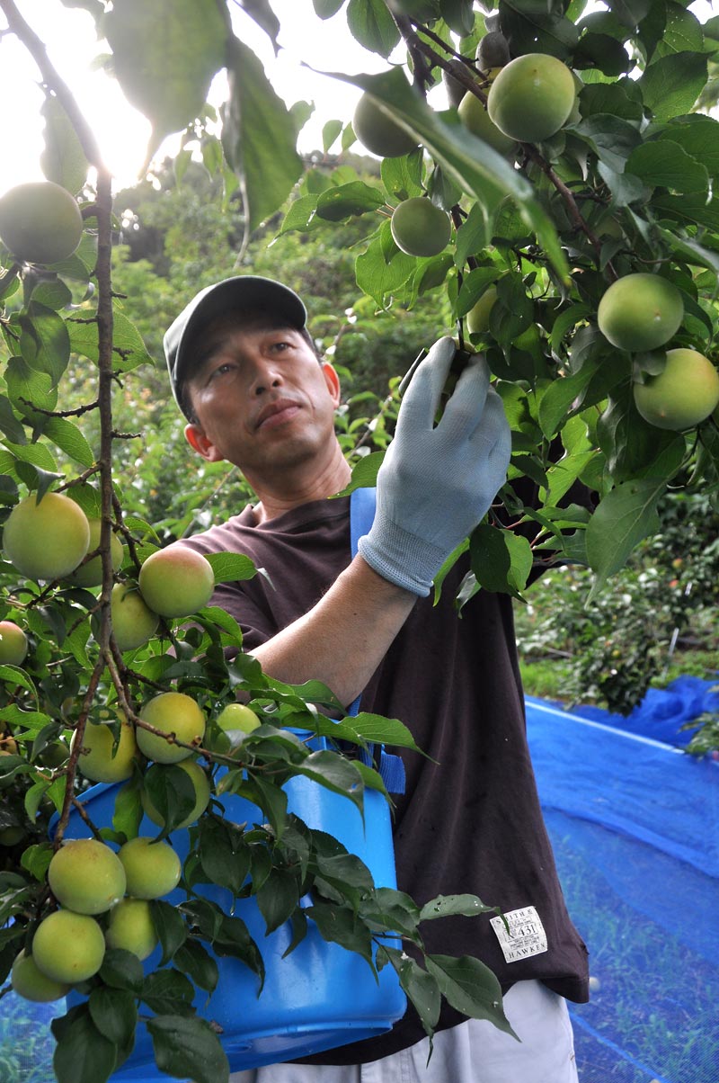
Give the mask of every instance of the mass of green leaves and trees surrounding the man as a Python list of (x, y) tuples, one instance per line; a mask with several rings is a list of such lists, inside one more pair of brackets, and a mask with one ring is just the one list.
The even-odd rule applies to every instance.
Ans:
[[(283, 278), (318, 314), (323, 344), (341, 365), (347, 358), (348, 373), (378, 380), (369, 400), (372, 407), (381, 405), (376, 425), (363, 416), (362, 388), (339, 417), (343, 446), (361, 459), (357, 484), (371, 482), (381, 455), (369, 459), (365, 453), (381, 453), (396, 409), (398, 377), (407, 365), (403, 314), (421, 309), (428, 338), (452, 329), (466, 342), (463, 317), (488, 286), (496, 287), (488, 328), (472, 344), (486, 353), (514, 454), (497, 508), (470, 542), (472, 573), (460, 602), (482, 586), (521, 596), (533, 564), (558, 561), (588, 564), (596, 599), (636, 545), (657, 533), (669, 486), (702, 494), (716, 511), (716, 415), (707, 412), (681, 433), (643, 421), (632, 383), (661, 373), (665, 353), (610, 347), (597, 309), (616, 278), (645, 270), (661, 274), (683, 301), (672, 343), (715, 356), (719, 125), (693, 109), (713, 93), (707, 88), (717, 21), (703, 27), (691, 11), (665, 0), (607, 0), (600, 11), (581, 0), (499, 0), (496, 10), (487, 4), (482, 11), (472, 0), (437, 0), (441, 17), (427, 27), (393, 15), (381, 0), (352, 0), (344, 12), (341, 3), (315, 0), (317, 18), (347, 18), (348, 32), (367, 49), (388, 60), (401, 42), (406, 50), (406, 64), (382, 75), (335, 76), (369, 93), (418, 143), (407, 155), (385, 158), (378, 173), (361, 171), (341, 155), (327, 169), (303, 161), (297, 136), (306, 103), (288, 108), (278, 97), (232, 26), (233, 5), (101, 0), (81, 6), (97, 19), (110, 51), (108, 68), (152, 121), (148, 160), (164, 134), (184, 134), (174, 182), (167, 171), (158, 182), (168, 198), (154, 199), (149, 187), (134, 193), (145, 208), (142, 218), (132, 201), (113, 206), (112, 179), (83, 116), (13, 0), (0, 0), (3, 35), (12, 32), (27, 45), (47, 90), (43, 169), (77, 198), (84, 225), (77, 251), (53, 266), (0, 253), (6, 361), (0, 388), (2, 520), (28, 493), (65, 492), (101, 519), (103, 561), (102, 585), (91, 589), (30, 582), (8, 563), (0, 570), (0, 616), (19, 623), (31, 640), (22, 668), (0, 668), (0, 786), (8, 798), (0, 823), (22, 832), (2, 852), (0, 976), (6, 978), (18, 949), (30, 947), (54, 906), (45, 872), (84, 790), (77, 761), (87, 725), (120, 710), (135, 727), (147, 727), (139, 714), (142, 702), (173, 689), (193, 695), (209, 718), (202, 744), (187, 746), (204, 765), (213, 797), (192, 827), (186, 898), (178, 906), (154, 908), (162, 941), (159, 970), (145, 974), (131, 955), (108, 952), (99, 975), (77, 990), (79, 1003), (53, 1027), (58, 1083), (109, 1078), (131, 1049), (146, 1008), (155, 1013), (148, 1027), (162, 1070), (193, 1075), (197, 1083), (226, 1080), (221, 1044), (196, 1015), (192, 996), (214, 988), (215, 955), (241, 960), (259, 987), (263, 964), (241, 916), (204, 897), (207, 884), (240, 903), (253, 897), (267, 928), (289, 921), (296, 941), (306, 931), (309, 895), (321, 935), (358, 953), (370, 968), (391, 966), (429, 1034), (441, 996), (507, 1028), (496, 979), (483, 964), (428, 956), (422, 949), (423, 922), (492, 908), (461, 895), (420, 908), (402, 892), (378, 888), (358, 858), (287, 810), (282, 786), (296, 777), (362, 809), (366, 791), (383, 793), (381, 779), (334, 742), (414, 749), (410, 733), (397, 720), (375, 716), (328, 720), (324, 710), (343, 714), (330, 690), (271, 680), (243, 653), (234, 622), (211, 606), (195, 614), (191, 627), (166, 622), (159, 636), (122, 654), (112, 629), (110, 532), (126, 550), (118, 577), (134, 583), (159, 545), (204, 523), (210, 503), (217, 516), (220, 488), (232, 490), (223, 510), (247, 495), (235, 475), (225, 482), (221, 468), (198, 473), (188, 492), (189, 471), (178, 469), (180, 421), (159, 405), (167, 382), (152, 358), (178, 298), (232, 273), (236, 245), (241, 260), (257, 243), (256, 272), (277, 266), (263, 248), (269, 230), (283, 256)], [(276, 45), (279, 27), (270, 6), (246, 6)], [(518, 145), (511, 161), (466, 131), (455, 109), (436, 113), (426, 100), (430, 86), (446, 75), (484, 103), (488, 75), (475, 49), (488, 29), (501, 32), (512, 56), (551, 53), (578, 79), (576, 109), (564, 128), (541, 144)], [(221, 68), (228, 95), (218, 119), (205, 99)], [(339, 141), (344, 154), (353, 140), (342, 118), (326, 129), (324, 151)], [(204, 199), (201, 184), (192, 181), (193, 156), (201, 159), (214, 199)], [(177, 186), (183, 178), (191, 198)], [(424, 196), (452, 217), (454, 233), (445, 251), (416, 259), (396, 248), (390, 217), (397, 203)], [(118, 227), (129, 253), (114, 245)], [(224, 238), (220, 261), (211, 240), (218, 234)], [(161, 246), (153, 244), (160, 235)], [(313, 256), (323, 245), (326, 250), (309, 261), (313, 243)], [(337, 253), (347, 246), (355, 283), (340, 278), (338, 296)], [(344, 255), (342, 262), (347, 268)], [(390, 318), (396, 327), (396, 350), (387, 354), (378, 347), (378, 314), (383, 328)], [(377, 363), (366, 366), (371, 352), (379, 354)], [(140, 391), (136, 374), (147, 374)], [(162, 446), (138, 454), (135, 426), (148, 425), (158, 429)], [(170, 472), (180, 475), (178, 485), (153, 493), (157, 479)], [(596, 494), (593, 511), (587, 491)], [(241, 557), (220, 554), (212, 563), (218, 582), (257, 574)], [(710, 576), (702, 576), (704, 590)], [(639, 606), (649, 580), (638, 582), (632, 598)], [(681, 590), (669, 589), (674, 618), (683, 603)], [(581, 621), (573, 634), (587, 635)], [(643, 680), (640, 662), (631, 662), (623, 680), (622, 702)], [(215, 718), (238, 693), (262, 726), (228, 746)], [(319, 738), (329, 746), (313, 744)], [(112, 824), (89, 830), (113, 844), (133, 837), (144, 793), (165, 821), (164, 837), (194, 806), (191, 790), (177, 767), (139, 766), (120, 791)], [(246, 797), (258, 810), (257, 822), (240, 827), (227, 821), (223, 794)], [(397, 935), (411, 957), (392, 947), (389, 938)]]

